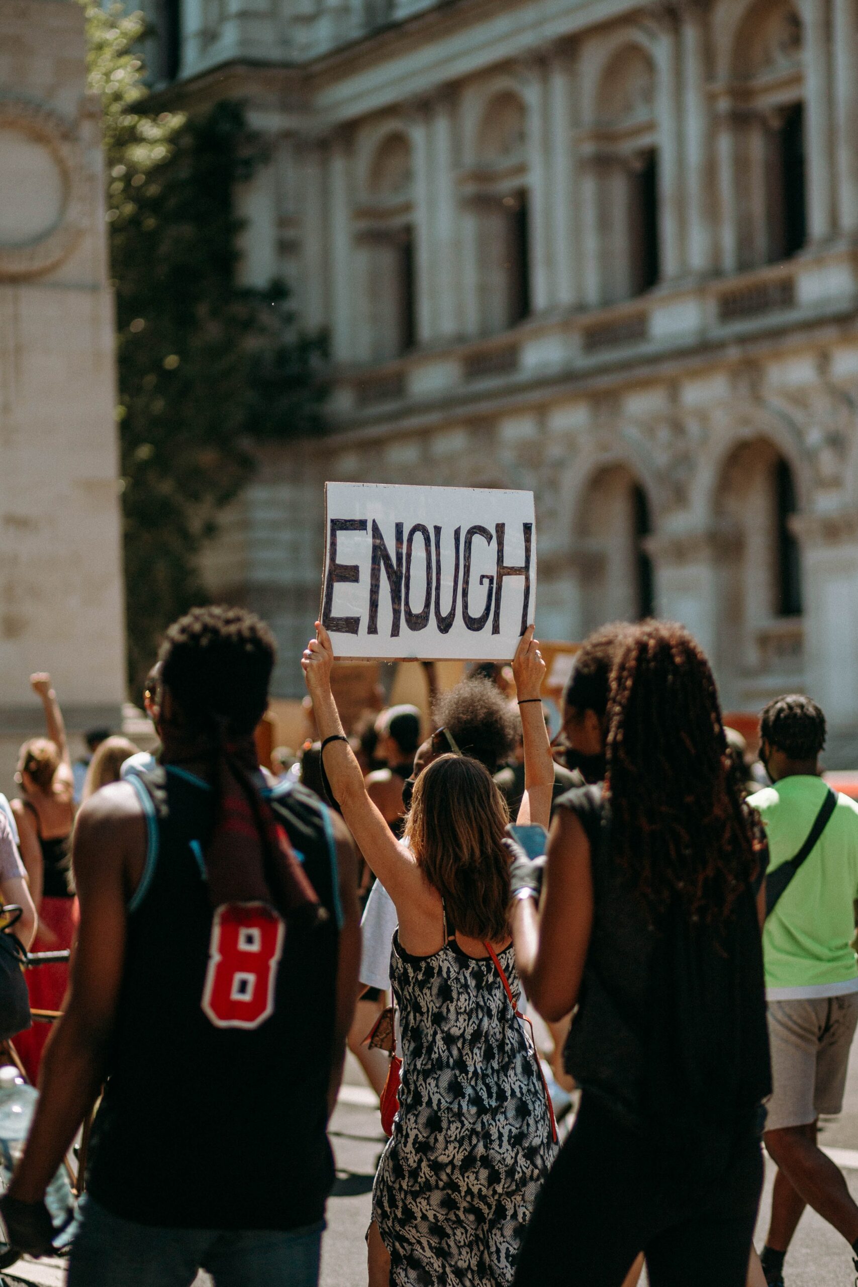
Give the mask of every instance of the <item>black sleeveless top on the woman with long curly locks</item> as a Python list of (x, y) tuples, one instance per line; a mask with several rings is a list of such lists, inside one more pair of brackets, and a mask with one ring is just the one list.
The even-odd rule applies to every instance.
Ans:
[(753, 1129), (771, 1091), (765, 988), (751, 885), (722, 932), (674, 903), (657, 925), (617, 862), (602, 788), (569, 792), (590, 844), (593, 929), (565, 1049), (584, 1093), (626, 1125), (700, 1147)]

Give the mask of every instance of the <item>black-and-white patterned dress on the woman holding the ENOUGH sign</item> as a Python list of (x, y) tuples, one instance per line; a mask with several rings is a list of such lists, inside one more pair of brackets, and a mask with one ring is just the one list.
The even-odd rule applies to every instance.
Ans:
[[(512, 947), (499, 954), (518, 1003)], [(410, 956), (394, 936), (400, 1109), (373, 1187), (392, 1287), (512, 1283), (554, 1158), (545, 1091), (490, 959), (449, 938)]]

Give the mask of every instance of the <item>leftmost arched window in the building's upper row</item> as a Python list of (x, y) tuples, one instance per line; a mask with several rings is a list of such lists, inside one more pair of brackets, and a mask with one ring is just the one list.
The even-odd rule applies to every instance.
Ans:
[(397, 358), (417, 342), (417, 283), (412, 199), (412, 145), (394, 133), (372, 156), (364, 247), (367, 335), (372, 362)]

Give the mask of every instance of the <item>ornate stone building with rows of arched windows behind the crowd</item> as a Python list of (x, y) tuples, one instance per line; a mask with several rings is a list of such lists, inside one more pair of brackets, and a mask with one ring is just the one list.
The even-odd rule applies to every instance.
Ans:
[[(154, 4), (154, 0), (153, 0)], [(297, 655), (325, 479), (533, 488), (538, 628), (656, 611), (728, 709), (858, 757), (854, 0), (158, 0), (160, 75), (271, 145), (244, 272), (334, 358), (210, 574)], [(175, 93), (175, 90), (174, 90)]]

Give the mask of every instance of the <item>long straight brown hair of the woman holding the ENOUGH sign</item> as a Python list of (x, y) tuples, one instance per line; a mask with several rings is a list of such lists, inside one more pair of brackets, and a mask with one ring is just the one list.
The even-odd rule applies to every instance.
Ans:
[(497, 943), (509, 933), (509, 858), (500, 843), (508, 821), (491, 773), (468, 755), (440, 755), (414, 782), (404, 839), (470, 938)]

